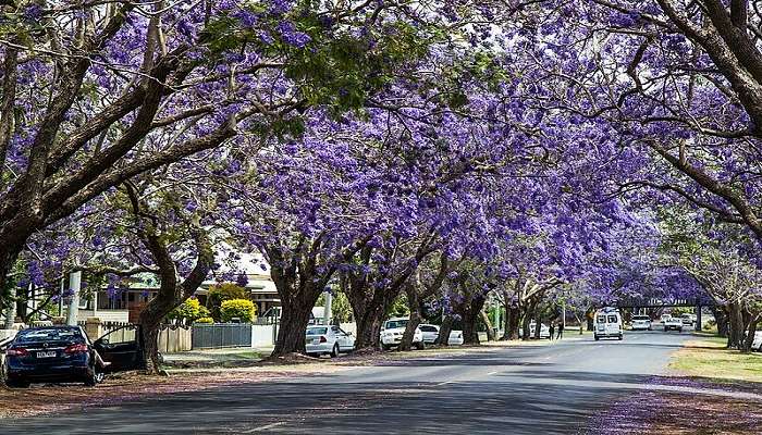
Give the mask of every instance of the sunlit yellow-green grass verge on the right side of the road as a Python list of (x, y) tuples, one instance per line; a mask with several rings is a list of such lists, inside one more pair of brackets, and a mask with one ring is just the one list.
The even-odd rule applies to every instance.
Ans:
[(688, 341), (674, 355), (669, 368), (687, 376), (708, 377), (716, 382), (762, 383), (762, 353), (728, 350), (726, 343), (721, 337)]

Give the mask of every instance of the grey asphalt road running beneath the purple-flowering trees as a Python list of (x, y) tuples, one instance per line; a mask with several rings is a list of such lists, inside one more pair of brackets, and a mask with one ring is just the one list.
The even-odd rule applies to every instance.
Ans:
[(0, 434), (579, 434), (648, 388), (689, 337), (654, 331), (423, 358), (4, 421)]

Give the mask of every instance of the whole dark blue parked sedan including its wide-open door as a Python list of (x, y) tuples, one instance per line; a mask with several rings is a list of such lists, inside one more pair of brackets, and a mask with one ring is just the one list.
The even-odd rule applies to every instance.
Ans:
[[(82, 382), (95, 386), (107, 373), (145, 368), (137, 339), (110, 344), (107, 335), (90, 343), (79, 326), (23, 330), (5, 345), (2, 377), (9, 387), (27, 387), (35, 382)], [(96, 352), (107, 366), (96, 363)]]

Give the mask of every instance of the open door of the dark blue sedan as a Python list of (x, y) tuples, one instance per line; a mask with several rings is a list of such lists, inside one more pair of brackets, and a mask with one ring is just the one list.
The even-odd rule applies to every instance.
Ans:
[(98, 338), (93, 348), (103, 361), (110, 363), (103, 370), (106, 373), (146, 369), (138, 325), (126, 325), (111, 331)]

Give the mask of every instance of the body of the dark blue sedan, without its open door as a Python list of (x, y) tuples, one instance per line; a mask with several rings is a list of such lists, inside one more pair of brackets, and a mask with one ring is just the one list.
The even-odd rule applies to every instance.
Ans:
[(78, 326), (42, 326), (19, 332), (5, 349), (2, 375), (9, 387), (33, 382), (82, 382), (95, 386), (102, 380), (94, 349)]

